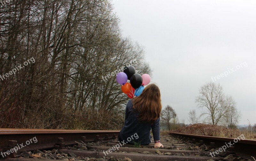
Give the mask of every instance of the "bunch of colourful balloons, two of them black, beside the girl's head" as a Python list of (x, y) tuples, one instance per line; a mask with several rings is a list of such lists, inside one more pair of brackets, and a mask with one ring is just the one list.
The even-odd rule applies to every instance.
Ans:
[[(130, 83), (127, 80), (130, 80)], [(136, 73), (133, 66), (129, 66), (124, 69), (124, 72), (119, 72), (116, 75), (116, 81), (122, 85), (121, 89), (124, 94), (133, 98), (142, 93), (144, 86), (150, 82), (150, 76), (148, 74), (140, 75)]]

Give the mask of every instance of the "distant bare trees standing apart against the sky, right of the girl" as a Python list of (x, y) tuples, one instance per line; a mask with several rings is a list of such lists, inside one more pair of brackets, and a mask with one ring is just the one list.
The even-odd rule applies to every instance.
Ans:
[[(188, 113), (190, 124), (203, 122), (237, 128), (241, 114), (236, 108), (236, 101), (232, 96), (224, 94), (223, 87), (220, 84), (208, 82), (201, 86), (195, 102), (201, 109), (201, 114), (197, 117), (196, 110), (190, 110)], [(203, 120), (200, 121), (200, 118), (203, 118)], [(178, 118), (174, 108), (167, 105), (162, 110), (161, 120), (168, 130), (176, 129), (173, 124), (177, 123), (175, 120), (178, 120)]]

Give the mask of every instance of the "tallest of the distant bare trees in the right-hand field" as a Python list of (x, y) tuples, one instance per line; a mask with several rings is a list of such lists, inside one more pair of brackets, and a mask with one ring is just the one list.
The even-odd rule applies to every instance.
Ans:
[(220, 84), (208, 82), (199, 89), (199, 95), (196, 97), (198, 107), (202, 109), (202, 115), (206, 115), (206, 122), (216, 125), (227, 112), (226, 106), (223, 106), (223, 88)]

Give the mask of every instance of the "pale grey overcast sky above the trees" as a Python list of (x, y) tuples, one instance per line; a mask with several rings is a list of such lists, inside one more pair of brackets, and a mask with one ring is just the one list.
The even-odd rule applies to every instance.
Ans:
[(112, 3), (123, 35), (145, 46), (163, 107), (172, 106), (179, 120), (188, 123), (189, 110), (200, 115), (198, 89), (214, 81), (237, 102), (239, 124), (248, 124), (247, 119), (256, 123), (256, 1)]

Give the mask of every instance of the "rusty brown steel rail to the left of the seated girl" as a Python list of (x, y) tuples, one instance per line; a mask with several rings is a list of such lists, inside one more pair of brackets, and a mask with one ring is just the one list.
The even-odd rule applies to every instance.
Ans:
[[(17, 144), (16, 146), (18, 146), (23, 143), (24, 147), (20, 151), (42, 150), (54, 148), (58, 141), (64, 142), (65, 145), (72, 145), (76, 144), (76, 141), (82, 140), (83, 136), (88, 142), (91, 142), (96, 137), (104, 139), (108, 135), (112, 138), (117, 137), (118, 134), (119, 131), (106, 130), (0, 129), (0, 151), (10, 144), (13, 144), (12, 146)], [(35, 141), (30, 140), (33, 138)], [(29, 145), (26, 144), (27, 141), (30, 141)]]

